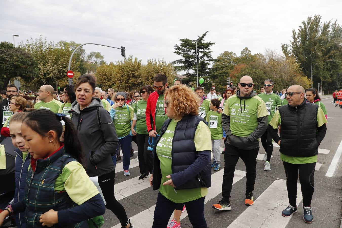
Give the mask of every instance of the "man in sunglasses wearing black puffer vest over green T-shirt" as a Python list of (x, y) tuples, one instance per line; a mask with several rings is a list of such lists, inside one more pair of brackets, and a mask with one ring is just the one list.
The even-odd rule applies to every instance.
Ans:
[[(307, 103), (305, 90), (300, 85), (291, 85), (285, 97), (288, 105), (281, 106), (268, 125), (268, 132), (280, 146), (280, 159), (286, 174), (289, 206), (282, 215), (290, 217), (297, 212), (297, 180), (303, 195), (303, 219), (313, 221), (311, 200), (314, 193), (314, 172), (318, 146), (327, 132), (327, 119), (316, 104)], [(281, 124), (281, 137), (277, 128)]]

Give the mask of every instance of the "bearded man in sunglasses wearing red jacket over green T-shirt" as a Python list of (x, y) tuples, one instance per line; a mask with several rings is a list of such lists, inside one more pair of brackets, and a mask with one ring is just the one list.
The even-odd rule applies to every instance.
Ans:
[(167, 119), (164, 108), (164, 94), (168, 89), (168, 78), (163, 73), (157, 73), (153, 78), (153, 88), (156, 90), (147, 99), (146, 125), (149, 137), (156, 137), (161, 126)]

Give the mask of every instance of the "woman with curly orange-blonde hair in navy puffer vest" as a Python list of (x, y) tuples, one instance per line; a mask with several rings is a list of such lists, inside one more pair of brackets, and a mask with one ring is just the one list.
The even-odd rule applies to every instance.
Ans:
[(165, 92), (164, 107), (170, 119), (161, 127), (153, 151), (150, 185), (159, 193), (152, 227), (166, 227), (180, 203), (193, 227), (207, 227), (204, 198), (211, 186), (211, 136), (198, 116), (199, 98), (185, 85), (172, 86)]

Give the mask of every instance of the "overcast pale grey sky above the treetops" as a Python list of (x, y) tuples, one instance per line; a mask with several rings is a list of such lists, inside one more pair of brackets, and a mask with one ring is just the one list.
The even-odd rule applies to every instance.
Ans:
[[(307, 16), (322, 21), (341, 19), (342, 1), (73, 1), (1, 0), (0, 41), (39, 36), (48, 41), (76, 41), (125, 46), (126, 56), (142, 59), (179, 58), (173, 53), (180, 38), (196, 39), (210, 31), (206, 41), (213, 57), (223, 51), (237, 55), (248, 47), (252, 54), (265, 48), (281, 52), (292, 29)], [(341, 21), (339, 22), (342, 23)], [(87, 53), (100, 51), (106, 62), (122, 59), (120, 50), (86, 45)]]

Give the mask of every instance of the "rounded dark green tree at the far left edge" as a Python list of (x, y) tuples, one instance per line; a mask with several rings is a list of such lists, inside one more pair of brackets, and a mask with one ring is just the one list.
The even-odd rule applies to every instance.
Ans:
[(29, 82), (35, 78), (37, 72), (37, 61), (30, 53), (15, 48), (12, 43), (0, 43), (0, 80), (3, 82), (2, 89), (5, 89), (9, 81), (16, 77)]

